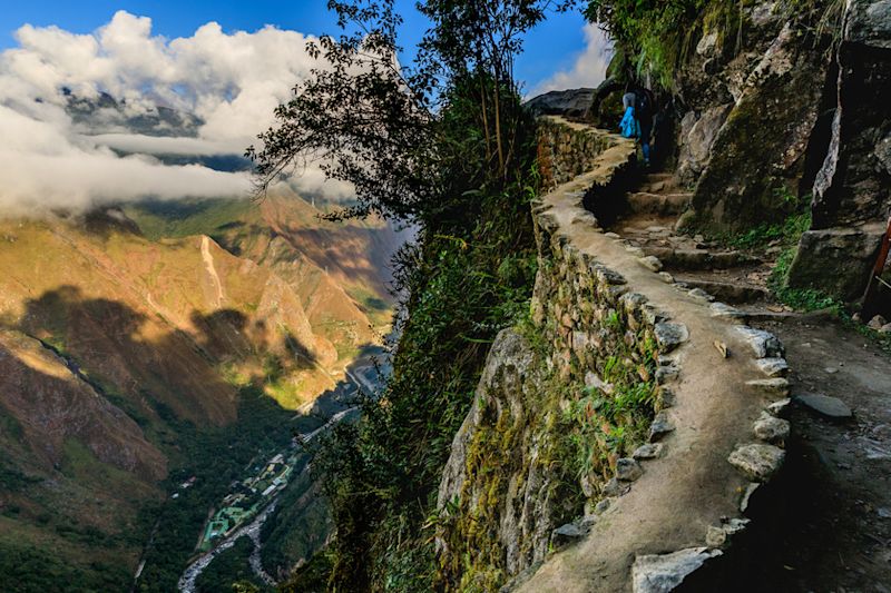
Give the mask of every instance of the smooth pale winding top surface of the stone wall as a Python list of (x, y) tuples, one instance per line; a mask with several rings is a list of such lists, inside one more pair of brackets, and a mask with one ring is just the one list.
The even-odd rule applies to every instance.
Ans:
[(630, 155), (627, 142), (617, 141), (593, 171), (548, 195), (542, 210), (558, 223), (555, 236), (619, 271), (634, 291), (686, 328), (688, 339), (673, 353), (681, 367), (670, 383), (675, 402), (656, 423), (670, 433), (662, 456), (642, 463), (643, 476), (593, 520), (589, 535), (556, 553), (519, 591), (669, 591), (722, 555), (730, 534), (745, 525), (741, 502), (782, 462), (782, 449), (754, 434), (785, 391), (782, 378), (765, 383), (770, 377), (756, 364), (780, 354), (775, 339), (742, 332), (732, 307), (715, 307), (707, 295), (666, 281), (645, 249), (604, 233), (581, 207), (579, 196), (603, 186)]

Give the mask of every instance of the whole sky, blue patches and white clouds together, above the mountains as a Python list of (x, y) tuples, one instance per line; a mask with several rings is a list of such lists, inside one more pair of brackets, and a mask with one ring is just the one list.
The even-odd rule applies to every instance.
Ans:
[[(411, 53), (427, 27), (414, 0), (396, 2)], [(0, 0), (0, 210), (28, 211), (38, 196), (55, 208), (145, 196), (247, 195), (249, 179), (242, 172), (151, 156), (243, 154), (273, 125), (275, 107), (288, 100), (294, 85), (319, 66), (306, 52), (306, 36), (336, 34), (325, 6), (326, 0)], [(527, 97), (596, 86), (607, 47), (579, 13), (552, 14), (528, 34), (515, 73)], [(107, 92), (118, 109), (76, 121), (61, 89), (82, 98)], [(128, 127), (128, 118), (158, 106), (200, 123), (194, 130), (165, 128), (163, 135)], [(326, 179), (317, 162), (287, 182), (298, 194), (331, 200), (353, 192)]]

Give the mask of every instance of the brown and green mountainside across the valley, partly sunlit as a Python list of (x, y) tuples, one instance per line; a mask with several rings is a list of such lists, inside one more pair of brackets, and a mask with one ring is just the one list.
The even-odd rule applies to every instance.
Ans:
[[(389, 326), (385, 226), (337, 236), (295, 196), (128, 211), (0, 220), (3, 591), (123, 591), (140, 559), (139, 591), (173, 590), (232, 481)], [(307, 513), (273, 540), (324, 538)]]

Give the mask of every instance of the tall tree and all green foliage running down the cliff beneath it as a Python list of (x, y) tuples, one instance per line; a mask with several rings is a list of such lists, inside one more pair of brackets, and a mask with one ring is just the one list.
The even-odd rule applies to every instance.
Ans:
[(421, 229), (396, 258), (409, 314), (392, 377), (313, 463), (336, 525), (334, 591), (433, 584), (422, 526), (442, 465), (496, 333), (528, 310), (538, 176), (512, 63), (522, 33), (557, 4), (566, 2), (421, 3), (431, 27), (417, 60), (396, 67), (393, 1), (332, 0), (345, 32), (310, 47), (330, 66), (276, 110), (263, 148), (248, 149), (261, 189), (319, 158), (356, 190), (358, 206), (333, 217), (374, 211)]

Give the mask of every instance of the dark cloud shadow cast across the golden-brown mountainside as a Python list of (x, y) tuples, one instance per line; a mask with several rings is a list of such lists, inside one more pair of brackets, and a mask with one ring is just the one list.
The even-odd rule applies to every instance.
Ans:
[[(140, 424), (157, 417), (159, 407), (197, 425), (235, 419), (237, 389), (221, 376), (221, 365), (266, 357), (282, 374), (317, 365), (296, 336), (274, 333), (242, 312), (194, 312), (189, 320), (194, 333), (66, 285), (27, 300), (12, 328), (51, 347), (72, 370), (88, 368), (91, 380)], [(256, 369), (249, 380), (260, 384), (265, 374)]]

